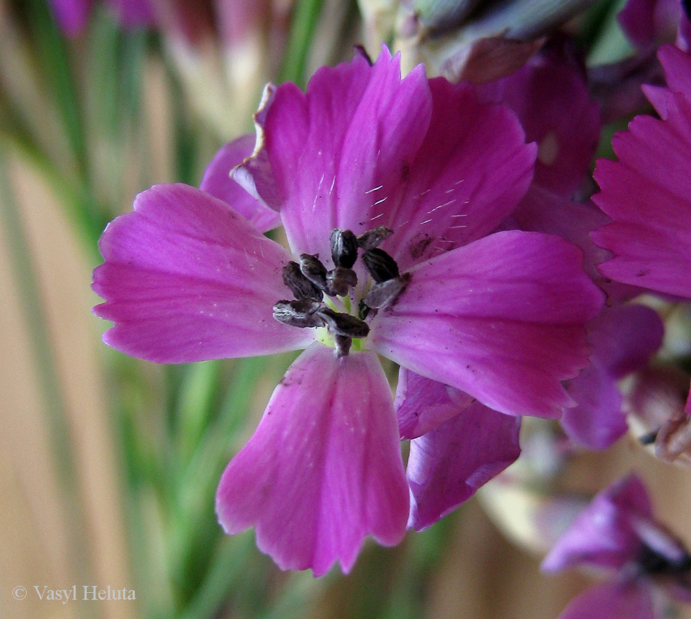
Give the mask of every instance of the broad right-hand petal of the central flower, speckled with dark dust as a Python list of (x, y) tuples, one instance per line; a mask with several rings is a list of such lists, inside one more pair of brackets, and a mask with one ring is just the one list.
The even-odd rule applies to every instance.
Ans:
[(559, 417), (560, 381), (587, 363), (583, 325), (603, 294), (557, 236), (498, 232), (418, 265), (370, 343), (424, 377), (510, 415)]

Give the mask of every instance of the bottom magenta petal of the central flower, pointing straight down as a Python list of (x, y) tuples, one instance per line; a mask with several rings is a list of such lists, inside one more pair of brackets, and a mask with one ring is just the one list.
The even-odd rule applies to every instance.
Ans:
[(372, 353), (308, 348), (274, 390), (216, 495), (227, 533), (254, 526), (282, 569), (348, 572), (365, 535), (401, 541), (408, 484), (384, 371)]

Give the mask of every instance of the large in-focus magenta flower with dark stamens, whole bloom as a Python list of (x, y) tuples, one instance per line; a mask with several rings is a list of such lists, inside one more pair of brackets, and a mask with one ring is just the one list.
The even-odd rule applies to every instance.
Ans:
[[(573, 404), (560, 381), (587, 362), (602, 294), (562, 238), (490, 234), (527, 191), (536, 148), (471, 87), (422, 66), (401, 79), (384, 48), (373, 65), (321, 68), (306, 93), (267, 86), (255, 118), (251, 157), (247, 138), (231, 143), (200, 189), (152, 187), (106, 229), (95, 312), (115, 323), (106, 343), (151, 361), (306, 348), (216, 510), (227, 533), (254, 526), (283, 569), (348, 571), (365, 535), (396, 544), (410, 512), (377, 353), (464, 410), (453, 436), (437, 432), (466, 439), (445, 469), (463, 500), (518, 455), (515, 417)], [(262, 234), (279, 221), (291, 251)]]

